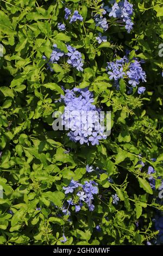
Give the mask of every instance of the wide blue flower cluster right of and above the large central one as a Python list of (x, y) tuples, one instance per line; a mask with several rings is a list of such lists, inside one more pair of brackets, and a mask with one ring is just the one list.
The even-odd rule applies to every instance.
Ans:
[[(146, 82), (146, 72), (142, 70), (141, 61), (137, 58), (129, 61), (128, 57), (124, 56), (115, 62), (108, 62), (107, 64), (106, 71), (108, 71), (110, 80), (114, 79), (116, 86), (119, 85), (118, 80), (121, 78), (128, 78), (128, 83), (132, 86), (130, 87), (131, 89), (136, 87), (140, 80)], [(145, 87), (140, 87), (138, 93), (142, 94), (145, 90)]]

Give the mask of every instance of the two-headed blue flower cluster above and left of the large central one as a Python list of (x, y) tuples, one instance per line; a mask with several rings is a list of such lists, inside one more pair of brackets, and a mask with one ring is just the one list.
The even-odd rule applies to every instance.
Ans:
[[(62, 27), (63, 25), (64, 24), (61, 24), (60, 26)], [(47, 63), (48, 69), (53, 71), (53, 69), (51, 68), (51, 64), (58, 63), (58, 61), (60, 60), (60, 57), (65, 56), (65, 57), (68, 57), (67, 59), (68, 64), (72, 65), (73, 68), (76, 68), (78, 71), (83, 71), (82, 67), (84, 65), (83, 64), (84, 60), (82, 59), (82, 54), (79, 51), (77, 51), (76, 48), (73, 48), (70, 45), (67, 45), (67, 50), (68, 52), (65, 53), (64, 51), (61, 51), (56, 44), (54, 44), (51, 57), (49, 59), (49, 62)], [(46, 60), (45, 56), (43, 56), (42, 58)]]

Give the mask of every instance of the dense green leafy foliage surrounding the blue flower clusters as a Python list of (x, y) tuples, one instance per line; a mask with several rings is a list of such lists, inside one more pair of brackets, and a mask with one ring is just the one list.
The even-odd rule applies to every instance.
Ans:
[[(1, 1), (0, 244), (161, 243), (163, 7), (161, 0), (129, 2), (134, 5), (130, 33), (121, 19), (104, 14), (102, 4), (114, 4), (109, 1)], [(78, 10), (83, 19), (65, 19), (65, 8), (71, 17)], [(108, 29), (97, 26), (100, 15)], [(107, 41), (99, 43), (99, 33)], [(54, 44), (63, 54), (49, 63)], [(82, 54), (81, 68), (67, 63), (67, 45)], [(107, 74), (107, 63), (123, 58), (126, 50), (129, 63), (145, 60), (147, 82), (138, 85), (146, 87), (143, 94), (138, 87), (128, 93), (126, 75), (117, 88)], [(60, 95), (74, 87), (89, 88), (92, 104), (111, 111), (111, 134), (99, 145), (75, 143), (67, 131), (53, 130), (53, 112), (64, 111)], [(67, 196), (71, 179), (96, 182), (95, 209), (83, 203), (77, 211), (77, 193), (86, 188), (79, 185)], [(66, 210), (70, 197), (74, 204)]]

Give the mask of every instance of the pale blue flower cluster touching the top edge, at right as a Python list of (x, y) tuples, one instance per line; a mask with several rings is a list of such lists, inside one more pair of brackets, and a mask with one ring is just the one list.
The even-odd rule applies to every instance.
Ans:
[(127, 0), (115, 2), (109, 10), (109, 17), (120, 18), (126, 23), (125, 28), (128, 33), (130, 33), (134, 25), (131, 21), (131, 15), (133, 15), (133, 4), (130, 4)]

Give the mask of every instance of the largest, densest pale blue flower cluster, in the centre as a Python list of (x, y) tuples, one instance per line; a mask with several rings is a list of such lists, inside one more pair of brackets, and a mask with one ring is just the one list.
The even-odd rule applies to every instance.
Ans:
[[(73, 53), (72, 56), (75, 57), (76, 54)], [(99, 113), (100, 109), (92, 105), (93, 94), (87, 88), (73, 88), (65, 92), (65, 96), (61, 95), (66, 105), (61, 118), (65, 130), (70, 130), (68, 137), (71, 141), (80, 144), (98, 145), (99, 140), (106, 139), (106, 135), (104, 134), (105, 127), (100, 123), (103, 120)]]

